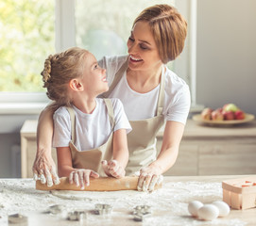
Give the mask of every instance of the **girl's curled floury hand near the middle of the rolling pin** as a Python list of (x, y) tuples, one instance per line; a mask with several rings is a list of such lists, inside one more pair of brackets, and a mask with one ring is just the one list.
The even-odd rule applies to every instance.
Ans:
[(120, 166), (120, 164), (116, 160), (111, 160), (109, 162), (103, 160), (101, 164), (102, 168), (108, 176), (122, 178), (126, 175), (126, 170), (122, 166)]

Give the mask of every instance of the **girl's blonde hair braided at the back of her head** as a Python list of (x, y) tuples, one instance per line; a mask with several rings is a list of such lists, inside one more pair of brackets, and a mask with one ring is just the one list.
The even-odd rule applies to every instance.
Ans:
[(69, 82), (82, 76), (87, 50), (73, 47), (65, 52), (48, 56), (44, 61), (43, 88), (47, 89), (49, 99), (56, 105), (70, 105)]

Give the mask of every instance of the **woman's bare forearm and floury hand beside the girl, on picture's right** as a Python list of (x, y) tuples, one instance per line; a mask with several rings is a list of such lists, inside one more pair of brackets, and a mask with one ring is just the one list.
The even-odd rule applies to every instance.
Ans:
[(152, 162), (148, 167), (141, 169), (138, 190), (153, 190), (161, 174), (175, 164), (184, 127), (184, 124), (177, 121), (166, 122), (161, 152), (156, 161)]

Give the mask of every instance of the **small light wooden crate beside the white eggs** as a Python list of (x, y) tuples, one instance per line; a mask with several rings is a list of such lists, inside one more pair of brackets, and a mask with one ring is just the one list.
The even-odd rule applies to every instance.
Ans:
[(256, 207), (256, 176), (222, 182), (223, 201), (232, 209)]

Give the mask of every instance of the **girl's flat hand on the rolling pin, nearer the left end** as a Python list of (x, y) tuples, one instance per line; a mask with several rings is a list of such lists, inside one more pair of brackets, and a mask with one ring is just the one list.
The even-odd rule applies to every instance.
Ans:
[(69, 174), (69, 183), (76, 184), (83, 190), (84, 186), (90, 186), (90, 177), (98, 178), (99, 174), (92, 169), (77, 169)]

